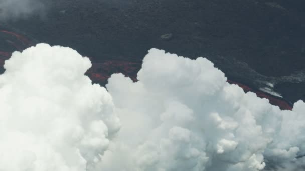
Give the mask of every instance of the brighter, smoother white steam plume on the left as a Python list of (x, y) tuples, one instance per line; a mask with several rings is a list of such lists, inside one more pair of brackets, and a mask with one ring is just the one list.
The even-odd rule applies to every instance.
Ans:
[(110, 94), (84, 73), (88, 58), (39, 44), (0, 75), (0, 170), (84, 171), (119, 129)]

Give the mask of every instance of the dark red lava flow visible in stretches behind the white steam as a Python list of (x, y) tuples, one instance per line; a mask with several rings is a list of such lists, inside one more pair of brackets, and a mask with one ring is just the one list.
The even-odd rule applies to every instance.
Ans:
[[(22, 51), (25, 48), (32, 45), (32, 42), (28, 40), (23, 35), (20, 35), (15, 32), (7, 31), (7, 30), (0, 30), (0, 38), (4, 39), (5, 44), (8, 44), (11, 49), (2, 49), (0, 51), (0, 65), (4, 65), (4, 61), (7, 60), (11, 53), (15, 50)], [(1, 37), (3, 36), (3, 37)], [(13, 48), (12, 48), (13, 47)], [(0, 49), (1, 50), (1, 49)], [(141, 61), (133, 61), (134, 59), (130, 59), (132, 61), (126, 61), (126, 59), (109, 59), (103, 61), (97, 61), (96, 58), (90, 58), (92, 61), (92, 67), (87, 71), (87, 75), (93, 80), (94, 82), (100, 83), (101, 85), (107, 84), (108, 78), (113, 73), (122, 73), (125, 76), (130, 77), (133, 81), (137, 81), (136, 75), (138, 70), (141, 68)], [(284, 101), (283, 99), (279, 99), (277, 97), (268, 95), (263, 93), (259, 90), (255, 90), (250, 88), (246, 85), (243, 85), (238, 82), (234, 82), (228, 80), (231, 84), (237, 84), (241, 88), (244, 89), (245, 92), (254, 92), (257, 96), (261, 98), (269, 99), (270, 103), (273, 105), (279, 106), (281, 109), (291, 110), (291, 105)]]

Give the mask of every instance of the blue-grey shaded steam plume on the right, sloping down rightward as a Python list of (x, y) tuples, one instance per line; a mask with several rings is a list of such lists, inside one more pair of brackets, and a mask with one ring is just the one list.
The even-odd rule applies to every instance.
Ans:
[(305, 154), (304, 102), (281, 111), (228, 84), (209, 60), (158, 49), (149, 50), (137, 78), (132, 82), (115, 74), (108, 80), (122, 129), (100, 170), (292, 170), (295, 162), (304, 165), (296, 160)]

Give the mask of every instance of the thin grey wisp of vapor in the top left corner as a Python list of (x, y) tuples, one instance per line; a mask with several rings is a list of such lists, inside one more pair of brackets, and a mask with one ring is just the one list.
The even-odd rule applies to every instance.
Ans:
[(44, 10), (42, 0), (0, 0), (0, 21), (42, 15)]

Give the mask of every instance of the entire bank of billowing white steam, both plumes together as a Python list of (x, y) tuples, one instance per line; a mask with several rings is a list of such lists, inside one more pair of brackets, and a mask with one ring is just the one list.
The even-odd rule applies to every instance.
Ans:
[(157, 49), (145, 56), (139, 81), (111, 76), (106, 87), (112, 97), (84, 76), (90, 66), (74, 50), (46, 44), (6, 61), (0, 76), (0, 170), (304, 166), (302, 101), (281, 111), (228, 84), (207, 59)]

